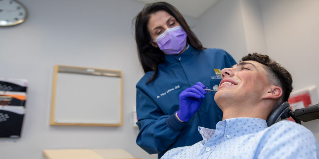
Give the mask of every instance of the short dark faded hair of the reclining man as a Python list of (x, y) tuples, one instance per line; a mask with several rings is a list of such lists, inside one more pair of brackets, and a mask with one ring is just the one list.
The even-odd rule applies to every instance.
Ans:
[[(293, 90), (293, 79), (291, 74), (280, 64), (276, 61), (271, 59), (268, 55), (253, 53), (248, 54), (241, 58), (241, 61), (256, 61), (263, 64), (265, 67), (267, 74), (267, 79), (275, 86), (281, 87), (283, 94), (282, 96), (276, 101), (273, 109), (278, 107), (285, 101), (288, 101), (291, 91)], [(241, 62), (240, 61), (240, 62)]]

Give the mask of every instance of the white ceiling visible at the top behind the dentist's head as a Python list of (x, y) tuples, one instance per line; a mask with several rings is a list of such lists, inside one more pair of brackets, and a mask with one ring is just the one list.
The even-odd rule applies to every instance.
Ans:
[(206, 10), (209, 10), (213, 5), (220, 0), (134, 0), (143, 3), (167, 2), (176, 7), (182, 15), (193, 18), (200, 17)]

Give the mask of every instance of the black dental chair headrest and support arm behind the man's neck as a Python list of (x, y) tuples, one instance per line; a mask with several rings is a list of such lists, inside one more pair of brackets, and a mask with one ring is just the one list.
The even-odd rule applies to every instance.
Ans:
[(270, 127), (272, 124), (289, 117), (292, 117), (293, 120), (299, 124), (301, 124), (301, 121), (307, 122), (319, 119), (319, 103), (293, 111), (291, 110), (290, 104), (284, 102), (268, 116), (267, 125)]

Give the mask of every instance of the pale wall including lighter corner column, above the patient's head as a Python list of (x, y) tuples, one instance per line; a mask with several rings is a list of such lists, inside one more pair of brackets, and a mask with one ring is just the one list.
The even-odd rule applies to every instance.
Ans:
[(198, 18), (195, 30), (207, 48), (221, 48), (236, 61), (248, 52), (267, 53), (258, 1), (223, 0)]

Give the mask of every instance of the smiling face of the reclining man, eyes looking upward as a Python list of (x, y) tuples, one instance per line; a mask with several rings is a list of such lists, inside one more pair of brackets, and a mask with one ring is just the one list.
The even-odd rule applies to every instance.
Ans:
[(223, 69), (221, 73), (223, 80), (214, 97), (217, 104), (223, 101), (227, 101), (227, 104), (254, 104), (262, 99), (270, 86), (263, 65), (256, 61), (240, 62)]

